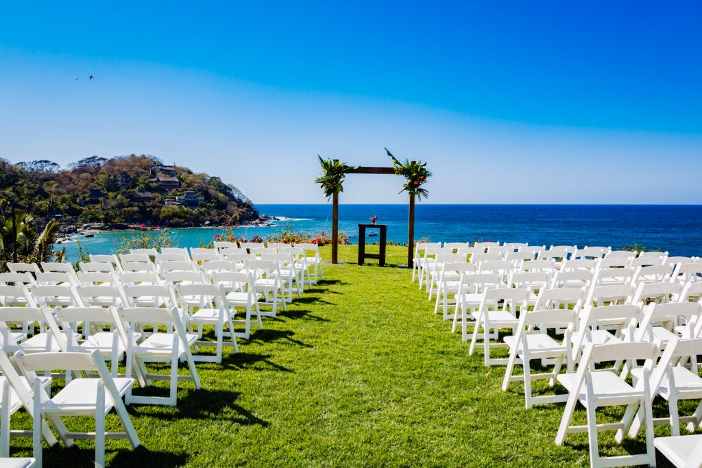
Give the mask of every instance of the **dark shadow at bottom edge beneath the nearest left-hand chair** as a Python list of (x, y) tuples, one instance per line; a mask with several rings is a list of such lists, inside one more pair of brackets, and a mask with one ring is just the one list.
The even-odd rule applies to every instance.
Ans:
[[(110, 455), (116, 453), (112, 460)], [(119, 448), (110, 450), (110, 441), (105, 445), (105, 457), (110, 467), (182, 467), (190, 458), (185, 452), (160, 452), (138, 446), (134, 450)], [(65, 448), (57, 444), (53, 448), (45, 448), (43, 455), (44, 467), (92, 467), (95, 464), (95, 449), (72, 446)]]

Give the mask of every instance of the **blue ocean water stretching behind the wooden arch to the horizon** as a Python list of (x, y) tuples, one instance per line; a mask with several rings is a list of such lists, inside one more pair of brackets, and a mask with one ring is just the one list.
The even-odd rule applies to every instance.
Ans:
[[(299, 232), (331, 232), (331, 204), (258, 205), (279, 218), (271, 227), (239, 227), (237, 235), (267, 236), (290, 226)], [(357, 243), (359, 223), (378, 217), (388, 225), (388, 240), (407, 241), (406, 205), (340, 205), (339, 230)], [(170, 229), (178, 246), (199, 246), (222, 229)], [(111, 253), (128, 232), (77, 237), (90, 253)], [(60, 244), (75, 260), (76, 239)], [(369, 241), (378, 238), (370, 238)], [(531, 245), (611, 246), (638, 243), (670, 255), (702, 255), (700, 205), (416, 205), (415, 239), (431, 241), (513, 241)]]

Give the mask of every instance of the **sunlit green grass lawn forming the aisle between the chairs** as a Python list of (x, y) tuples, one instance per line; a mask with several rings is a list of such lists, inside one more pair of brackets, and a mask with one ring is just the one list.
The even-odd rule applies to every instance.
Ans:
[[(128, 407), (142, 446), (107, 441), (108, 466), (589, 464), (586, 434), (554, 443), (563, 405), (524, 409), (522, 386), (501, 391), (504, 368), (485, 368), (481, 351), (468, 356), (411, 270), (376, 260), (359, 267), (356, 252), (341, 246), (346, 264), (324, 265), (325, 280), (239, 340), (239, 354), (199, 363), (203, 389), (182, 383), (176, 408)], [(390, 264), (406, 262), (406, 248), (388, 254)], [(157, 385), (165, 394), (166, 382)], [(581, 408), (576, 417), (585, 422)], [(107, 422), (119, 430), (116, 416)], [(13, 417), (20, 427), (31, 427), (22, 412)], [(623, 455), (641, 450), (643, 436), (618, 446), (603, 434), (600, 445)], [(58, 444), (44, 450), (44, 463), (88, 466), (93, 450), (91, 441)], [(30, 456), (31, 439), (11, 439), (11, 454)]]

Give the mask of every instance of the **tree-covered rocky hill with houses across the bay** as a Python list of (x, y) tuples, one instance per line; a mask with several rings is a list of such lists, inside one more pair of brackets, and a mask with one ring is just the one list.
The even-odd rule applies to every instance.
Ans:
[(1, 201), (34, 215), (105, 225), (185, 227), (258, 218), (251, 201), (219, 177), (144, 154), (91, 156), (65, 169), (46, 160), (0, 159)]

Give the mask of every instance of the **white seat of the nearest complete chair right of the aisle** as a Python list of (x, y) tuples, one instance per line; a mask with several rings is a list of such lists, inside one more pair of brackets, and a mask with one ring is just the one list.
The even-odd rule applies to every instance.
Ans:
[[(609, 370), (593, 372), (590, 375), (592, 376), (592, 393), (595, 396), (597, 406), (613, 406), (634, 402), (644, 395), (642, 390), (631, 387)], [(578, 376), (575, 373), (559, 374), (557, 380), (569, 393), (578, 392), (578, 400), (583, 405), (587, 405), (588, 395), (585, 385), (583, 383), (582, 388), (576, 388)]]

